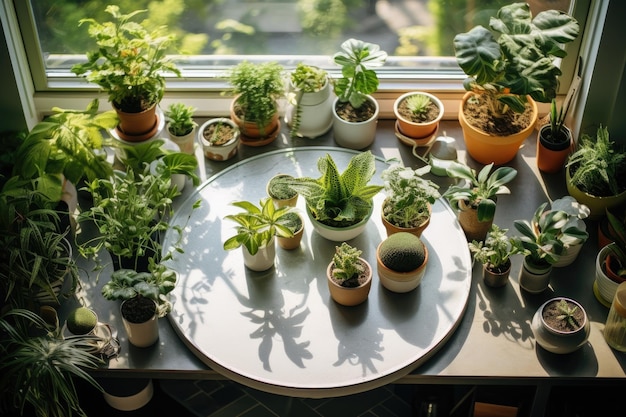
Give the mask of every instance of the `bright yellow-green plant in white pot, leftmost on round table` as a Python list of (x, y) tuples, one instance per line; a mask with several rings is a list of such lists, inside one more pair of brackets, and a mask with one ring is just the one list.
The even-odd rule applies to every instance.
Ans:
[(249, 201), (236, 201), (232, 205), (244, 211), (224, 217), (237, 223), (236, 233), (226, 239), (224, 249), (243, 247), (244, 264), (253, 271), (271, 268), (276, 257), (275, 236), (293, 236), (285, 218), (293, 207), (276, 208), (269, 197), (261, 199), (259, 206)]

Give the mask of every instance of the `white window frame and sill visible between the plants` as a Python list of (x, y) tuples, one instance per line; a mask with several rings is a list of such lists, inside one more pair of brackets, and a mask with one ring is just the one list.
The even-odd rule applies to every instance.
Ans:
[[(593, 10), (593, 4), (598, 1), (577, 0), (573, 10), (570, 12), (579, 21), (584, 22), (587, 19), (588, 12)], [(26, 86), (23, 94), (26, 95), (27, 99), (25, 106), (30, 110), (29, 116), (27, 116), (28, 124), (31, 125), (29, 128), (32, 127), (33, 121), (40, 120), (55, 106), (61, 108), (85, 108), (94, 97), (99, 97), (101, 109), (110, 108), (106, 95), (99, 92), (96, 86), (88, 85), (84, 80), (73, 76), (73, 74), (55, 71), (46, 73), (43, 59), (38, 52), (40, 51), (39, 40), (36, 35), (30, 2), (13, 0), (4, 3), (3, 13), (6, 16), (3, 16), (3, 18), (6, 18), (10, 32), (8, 38), (10, 42), (8, 43), (12, 43), (11, 48), (15, 51), (15, 59), (18, 60), (16, 77), (21, 79), (19, 84)], [(4, 25), (5, 22), (3, 20)], [(7, 36), (6, 29), (5, 37)], [(20, 30), (21, 35), (19, 35)], [(594, 31), (589, 33), (593, 34), (592, 32)], [(16, 36), (19, 39), (15, 39)], [(589, 34), (585, 34), (585, 36), (589, 37)], [(583, 36), (579, 36), (574, 43), (568, 45), (568, 49), (570, 51), (578, 51), (579, 49), (582, 51), (582, 38)], [(30, 53), (26, 51), (30, 51)], [(232, 59), (232, 57), (229, 58)], [(185, 59), (193, 58), (185, 57)], [(270, 61), (284, 60), (285, 57), (246, 56), (245, 59)], [(289, 63), (291, 63), (291, 66), (295, 66), (295, 63), (304, 59), (328, 63), (330, 58), (294, 56), (290, 57), (288, 62), (281, 63), (284, 63), (289, 68)], [(445, 119), (456, 119), (458, 103), (464, 93), (462, 81), (465, 79), (465, 75), (456, 67), (454, 58), (444, 58), (446, 68), (450, 69), (419, 72), (403, 70), (398, 65), (399, 61), (403, 59), (418, 59), (423, 60), (427, 65), (429, 64), (429, 58), (390, 57), (389, 64), (378, 71), (380, 87), (375, 96), (381, 106), (381, 117), (390, 118), (393, 116), (393, 101), (403, 92), (424, 90), (436, 94), (442, 100), (446, 109)], [(437, 60), (439, 61), (440, 58), (437, 58)], [(574, 53), (569, 53), (568, 57), (563, 60), (562, 70), (564, 75), (561, 77), (560, 95), (565, 95), (567, 92), (573, 77), (576, 60), (577, 54)], [(25, 68), (30, 68), (30, 71), (25, 72)], [(332, 66), (330, 68), (331, 75), (337, 75), (337, 70), (333, 72)], [(222, 94), (228, 88), (227, 83), (220, 78), (220, 74), (223, 71), (224, 69), (209, 69), (200, 66), (185, 69), (182, 78), (167, 80), (167, 90), (162, 105), (167, 106), (170, 102), (184, 100), (198, 109), (196, 114), (200, 117), (226, 115), (231, 98)], [(542, 106), (541, 109), (545, 111), (546, 107)]]

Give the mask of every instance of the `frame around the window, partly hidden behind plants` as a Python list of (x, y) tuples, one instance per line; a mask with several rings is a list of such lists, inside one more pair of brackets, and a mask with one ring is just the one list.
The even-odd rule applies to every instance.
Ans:
[[(587, 34), (584, 32), (587, 21), (587, 14), (591, 10), (591, 3), (597, 0), (575, 0), (570, 13), (580, 22), (581, 35), (571, 44), (568, 44), (568, 56), (561, 63), (563, 75), (559, 95), (567, 93), (574, 71), (578, 54), (581, 51), (581, 44)], [(30, 81), (34, 86), (32, 97), (33, 107), (37, 114), (43, 116), (50, 112), (54, 106), (62, 108), (84, 108), (94, 97), (100, 98), (100, 107), (105, 110), (110, 108), (106, 95), (99, 92), (97, 86), (89, 85), (80, 77), (68, 71), (49, 70), (46, 71), (43, 57), (40, 53), (40, 44), (36, 32), (36, 25), (33, 17), (30, 1), (13, 0), (15, 10), (15, 21), (13, 23), (21, 31), (23, 42), (23, 59), (26, 59), (27, 68), (30, 68)], [(68, 59), (71, 56), (60, 59)], [(232, 56), (213, 56), (212, 60), (229, 60), (237, 62), (237, 58)], [(285, 68), (295, 67), (299, 61), (306, 61), (327, 68), (331, 77), (339, 75), (339, 69), (333, 67), (328, 56), (245, 56), (245, 59), (252, 61), (278, 61)], [(198, 57), (184, 57), (187, 62), (196, 62), (195, 65), (185, 67), (182, 70), (181, 78), (167, 77), (166, 93), (162, 105), (167, 106), (170, 102), (185, 100), (198, 110), (196, 114), (200, 117), (220, 116), (228, 113), (228, 106), (231, 98), (224, 95), (224, 91), (229, 89), (226, 80), (222, 77), (227, 70), (227, 66), (209, 68), (200, 64)], [(431, 66), (431, 70), (416, 70), (414, 68), (404, 69), (403, 60), (417, 60)], [(435, 69), (434, 62), (443, 62), (445, 69)], [(379, 100), (381, 118), (393, 117), (393, 101), (400, 94), (411, 90), (424, 90), (436, 94), (444, 103), (446, 108), (444, 118), (456, 119), (458, 103), (465, 90), (463, 80), (465, 74), (456, 65), (454, 57), (389, 57), (388, 63), (377, 70), (380, 86), (374, 96)], [(545, 107), (540, 106), (541, 110)]]

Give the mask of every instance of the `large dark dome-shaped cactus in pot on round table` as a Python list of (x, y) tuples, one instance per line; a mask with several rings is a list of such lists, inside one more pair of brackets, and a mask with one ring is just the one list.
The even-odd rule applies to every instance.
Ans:
[(426, 258), (424, 243), (408, 232), (394, 233), (385, 239), (380, 245), (379, 256), (383, 265), (397, 272), (413, 271)]

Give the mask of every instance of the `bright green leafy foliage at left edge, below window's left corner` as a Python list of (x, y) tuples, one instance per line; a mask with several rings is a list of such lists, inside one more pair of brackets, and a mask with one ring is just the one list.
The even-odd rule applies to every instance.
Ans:
[(102, 133), (117, 125), (117, 116), (114, 111), (99, 113), (98, 107), (97, 99), (85, 110), (54, 107), (54, 114), (37, 123), (18, 149), (15, 173), (22, 178), (63, 174), (73, 184), (109, 177), (113, 167), (104, 147), (115, 143)]

